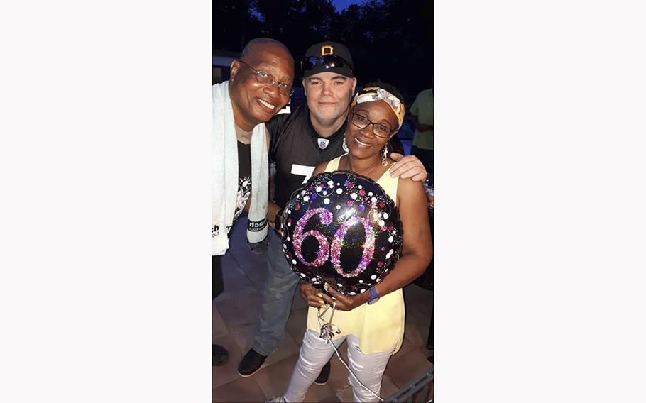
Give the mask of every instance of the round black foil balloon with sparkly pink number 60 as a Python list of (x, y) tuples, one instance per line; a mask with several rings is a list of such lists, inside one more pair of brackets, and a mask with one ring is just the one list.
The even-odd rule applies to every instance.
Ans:
[(395, 266), (402, 250), (399, 211), (381, 186), (349, 172), (324, 172), (285, 206), (283, 253), (292, 270), (316, 287), (366, 292)]

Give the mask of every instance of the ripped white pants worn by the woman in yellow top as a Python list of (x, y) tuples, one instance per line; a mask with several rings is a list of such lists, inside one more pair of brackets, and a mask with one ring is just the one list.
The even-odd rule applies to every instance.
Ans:
[[(390, 355), (393, 350), (383, 353), (363, 354), (359, 350), (358, 339), (352, 335), (345, 338), (339, 338), (334, 341), (334, 346), (338, 349), (345, 339), (348, 339), (348, 365), (354, 375), (366, 385), (373, 393), (379, 395), (381, 390), (381, 378), (388, 364)], [(310, 388), (323, 365), (334, 355), (334, 348), (326, 343), (317, 333), (307, 329), (303, 336), (303, 344), (300, 348), (300, 356), (292, 373), (292, 379), (288, 386), (287, 392), (283, 396), (284, 402), (300, 403), (305, 399), (305, 394)], [(353, 402), (378, 402), (371, 392), (356, 382), (356, 379), (349, 374), (348, 379), (352, 385)]]

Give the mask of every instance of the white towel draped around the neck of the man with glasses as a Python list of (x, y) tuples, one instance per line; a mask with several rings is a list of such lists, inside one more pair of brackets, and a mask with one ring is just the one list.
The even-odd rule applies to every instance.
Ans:
[[(212, 87), (211, 138), (212, 255), (224, 255), (229, 248), (227, 227), (233, 225), (238, 192), (238, 144), (229, 82)], [(247, 238), (251, 243), (267, 236), (269, 162), (265, 123), (251, 132), (251, 206)]]

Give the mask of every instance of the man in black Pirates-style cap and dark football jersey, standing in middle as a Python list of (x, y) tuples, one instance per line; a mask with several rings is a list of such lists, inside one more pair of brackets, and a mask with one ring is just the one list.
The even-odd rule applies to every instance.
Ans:
[[(307, 49), (301, 62), (302, 84), (307, 104), (291, 114), (278, 114), (266, 126), (270, 133), (270, 162), (275, 162), (275, 199), (269, 203), (267, 220), (275, 223), (292, 193), (307, 182), (319, 163), (348, 152), (344, 143), (347, 117), (356, 78), (350, 50), (340, 43), (324, 41)], [(422, 181), (426, 170), (413, 156), (394, 154), (393, 176)], [(243, 377), (253, 375), (285, 337), (292, 300), (299, 278), (283, 255), (279, 236), (271, 234), (268, 250), (269, 275), (263, 289), (260, 326), (251, 350), (238, 366)], [(315, 381), (324, 385), (329, 378), (327, 363)]]

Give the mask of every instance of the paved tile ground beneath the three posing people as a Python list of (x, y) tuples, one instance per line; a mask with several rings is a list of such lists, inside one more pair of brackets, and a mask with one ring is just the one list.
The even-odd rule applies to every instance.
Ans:
[[(236, 223), (231, 235), (231, 249), (222, 260), (224, 292), (213, 301), (214, 343), (225, 346), (229, 363), (213, 367), (213, 402), (262, 402), (285, 392), (298, 358), (307, 305), (296, 295), (288, 321), (285, 340), (269, 356), (263, 369), (251, 377), (240, 377), (236, 368), (248, 350), (257, 322), (258, 305), (267, 264), (265, 255), (251, 253), (245, 242), (246, 219)], [(433, 293), (409, 285), (404, 289), (406, 331), (401, 350), (390, 358), (383, 377), (382, 397), (388, 397), (432, 366), (427, 360), (426, 341), (429, 331)], [(346, 360), (346, 344), (339, 349)], [(305, 402), (351, 402), (348, 370), (332, 358), (332, 374), (327, 385), (312, 385)]]

